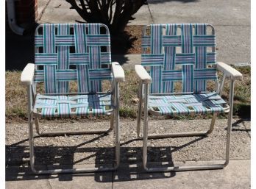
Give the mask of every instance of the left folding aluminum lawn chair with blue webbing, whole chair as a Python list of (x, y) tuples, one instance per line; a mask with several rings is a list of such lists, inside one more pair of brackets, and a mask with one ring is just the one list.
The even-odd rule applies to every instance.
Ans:
[[(102, 81), (111, 88), (104, 92)], [(29, 156), (35, 174), (113, 171), (118, 167), (119, 82), (124, 71), (111, 63), (110, 32), (104, 24), (42, 24), (35, 31), (35, 64), (29, 63), (21, 74), (27, 86), (29, 118)], [(36, 85), (44, 84), (44, 94)], [(77, 83), (71, 93), (70, 82)], [(90, 131), (40, 132), (38, 118), (112, 115), (110, 129)], [(35, 169), (33, 125), (39, 136), (100, 134), (115, 128), (115, 165), (109, 168)]]

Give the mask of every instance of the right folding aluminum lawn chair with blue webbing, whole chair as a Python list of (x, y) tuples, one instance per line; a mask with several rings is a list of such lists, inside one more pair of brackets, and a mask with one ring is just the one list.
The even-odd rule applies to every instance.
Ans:
[[(216, 63), (216, 35), (209, 24), (152, 24), (145, 26), (142, 37), (141, 65), (135, 65), (141, 79), (137, 132), (140, 137), (143, 105), (143, 167), (146, 171), (188, 171), (224, 168), (229, 163), (230, 133), (235, 79), (242, 74), (224, 63)], [(218, 82), (217, 70), (223, 72)], [(230, 101), (221, 99), (225, 79), (230, 79)], [(207, 91), (213, 80), (216, 91)], [(179, 84), (180, 83), (180, 84)], [(182, 90), (178, 91), (177, 86)], [(176, 87), (176, 88), (175, 88)], [(206, 132), (148, 134), (148, 114), (195, 115), (213, 114)], [(226, 160), (221, 165), (173, 166), (148, 168), (148, 138), (188, 137), (208, 135), (218, 113), (229, 113), (227, 121)]]

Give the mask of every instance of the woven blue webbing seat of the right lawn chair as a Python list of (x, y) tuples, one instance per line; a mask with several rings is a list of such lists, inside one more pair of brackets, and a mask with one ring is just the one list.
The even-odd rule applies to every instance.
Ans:
[(216, 92), (186, 95), (149, 95), (149, 112), (155, 115), (227, 113), (229, 106)]

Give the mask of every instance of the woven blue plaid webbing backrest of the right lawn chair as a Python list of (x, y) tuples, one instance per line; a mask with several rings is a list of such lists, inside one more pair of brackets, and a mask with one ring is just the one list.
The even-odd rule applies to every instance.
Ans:
[(150, 93), (206, 91), (207, 81), (216, 80), (216, 37), (209, 24), (152, 24), (142, 38), (144, 65), (152, 76)]

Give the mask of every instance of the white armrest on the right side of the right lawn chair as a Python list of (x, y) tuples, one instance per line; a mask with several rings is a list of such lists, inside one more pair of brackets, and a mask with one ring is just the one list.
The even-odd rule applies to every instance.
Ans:
[(237, 71), (235, 68), (232, 68), (230, 65), (227, 65), (225, 63), (218, 62), (217, 63), (217, 69), (222, 71), (226, 76), (230, 76), (230, 78), (233, 79), (243, 79), (243, 75)]

